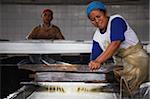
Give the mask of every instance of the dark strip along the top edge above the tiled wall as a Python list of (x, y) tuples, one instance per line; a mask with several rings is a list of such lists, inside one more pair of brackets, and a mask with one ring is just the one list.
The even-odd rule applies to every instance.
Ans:
[[(85, 5), (94, 0), (1, 0), (2, 4)], [(106, 4), (148, 4), (149, 0), (97, 0)]]

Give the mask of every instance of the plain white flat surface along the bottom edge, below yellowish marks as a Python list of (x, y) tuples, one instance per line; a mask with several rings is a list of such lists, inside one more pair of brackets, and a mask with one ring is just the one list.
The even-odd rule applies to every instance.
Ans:
[[(50, 97), (50, 98), (49, 98)], [(34, 92), (27, 99), (119, 99), (116, 93), (49, 93)]]

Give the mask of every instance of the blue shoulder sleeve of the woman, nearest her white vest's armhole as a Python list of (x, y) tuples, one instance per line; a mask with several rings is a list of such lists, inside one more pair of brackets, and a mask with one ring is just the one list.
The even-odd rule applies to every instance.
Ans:
[(124, 41), (125, 40), (125, 31), (127, 30), (126, 22), (120, 18), (114, 18), (111, 22), (110, 38), (111, 41)]

